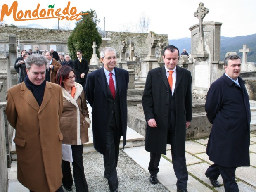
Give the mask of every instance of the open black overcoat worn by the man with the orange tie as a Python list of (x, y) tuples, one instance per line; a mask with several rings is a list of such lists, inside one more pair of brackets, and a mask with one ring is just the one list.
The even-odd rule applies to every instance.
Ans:
[[(164, 66), (152, 69), (147, 75), (142, 105), (145, 119), (156, 120), (157, 127), (147, 124), (145, 149), (149, 152), (166, 154), (168, 128), (176, 135), (178, 155), (185, 155), (186, 121), (192, 120), (192, 77), (190, 71), (177, 66), (173, 96)], [(175, 98), (174, 98), (175, 96)]]

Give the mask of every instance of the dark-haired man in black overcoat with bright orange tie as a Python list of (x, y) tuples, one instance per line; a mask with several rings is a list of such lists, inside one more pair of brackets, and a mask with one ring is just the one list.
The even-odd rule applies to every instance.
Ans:
[(187, 192), (185, 139), (192, 120), (192, 77), (190, 71), (177, 66), (178, 59), (177, 47), (164, 48), (164, 66), (149, 71), (142, 105), (148, 123), (145, 149), (150, 152), (150, 182), (158, 183), (161, 154), (166, 154), (166, 144), (171, 144), (177, 192)]

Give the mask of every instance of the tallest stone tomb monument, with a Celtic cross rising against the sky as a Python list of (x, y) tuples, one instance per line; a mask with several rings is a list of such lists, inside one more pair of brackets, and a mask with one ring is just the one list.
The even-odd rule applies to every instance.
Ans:
[(192, 74), (192, 90), (197, 98), (204, 98), (214, 81), (224, 73), (220, 61), (220, 28), (222, 23), (203, 22), (209, 12), (203, 3), (199, 4), (194, 16), (199, 23), (191, 26), (191, 57), (193, 64), (188, 65)]

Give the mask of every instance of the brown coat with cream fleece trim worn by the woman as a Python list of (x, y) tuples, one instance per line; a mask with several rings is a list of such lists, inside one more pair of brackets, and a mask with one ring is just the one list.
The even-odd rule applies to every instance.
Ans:
[(69, 145), (81, 145), (88, 142), (88, 127), (91, 123), (83, 87), (75, 83), (75, 88), (74, 98), (62, 88), (64, 99), (60, 129), (63, 135), (62, 143)]

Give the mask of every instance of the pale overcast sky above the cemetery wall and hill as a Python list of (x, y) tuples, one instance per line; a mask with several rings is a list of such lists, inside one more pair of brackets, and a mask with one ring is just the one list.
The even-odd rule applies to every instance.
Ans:
[[(71, 1), (71, 0), (70, 0)], [(12, 5), (13, 0), (1, 0), (2, 5)], [(41, 9), (48, 9), (48, 5), (55, 5), (64, 9), (68, 0), (17, 0), (19, 10), (34, 10), (38, 3)], [(204, 7), (209, 9), (204, 21), (221, 22), (221, 36), (235, 37), (256, 33), (256, 0), (203, 0)], [(199, 7), (197, 0), (72, 0), (71, 7), (76, 7), (78, 12), (93, 9), (100, 19), (99, 26), (106, 31), (138, 31), (138, 23), (142, 14), (150, 19), (149, 31), (168, 34), (169, 39), (190, 37), (190, 26), (199, 20), (194, 17), (194, 12)], [(57, 19), (41, 19), (32, 21), (14, 21), (12, 15), (5, 16), (8, 24), (27, 25), (40, 24), (47, 28), (57, 26)], [(59, 25), (66, 21), (59, 21)], [(136, 30), (137, 29), (137, 30)]]

